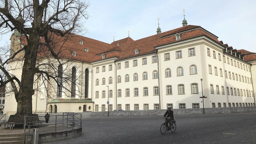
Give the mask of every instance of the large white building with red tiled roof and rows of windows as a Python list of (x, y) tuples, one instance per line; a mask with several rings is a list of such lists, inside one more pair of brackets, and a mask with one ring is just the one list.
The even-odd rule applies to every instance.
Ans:
[[(107, 111), (107, 106), (109, 110), (255, 106), (256, 54), (233, 49), (201, 26), (187, 25), (185, 19), (182, 24), (166, 32), (158, 26), (155, 35), (111, 44), (70, 38), (65, 46), (72, 52), (63, 61), (72, 56), (75, 62), (57, 69), (58, 75), (79, 76), (71, 82), (76, 85), (59, 93), (62, 88), (56, 83), (55, 88), (47, 87), (48, 96), (47, 88), (35, 91), (33, 112)], [(11, 36), (12, 43), (18, 39)], [(47, 62), (46, 57), (41, 61)], [(21, 62), (8, 63), (8, 68), (20, 77), (17, 63)], [(67, 85), (60, 82), (61, 87)], [(8, 94), (5, 99), (4, 113), (15, 113), (15, 98)]]

